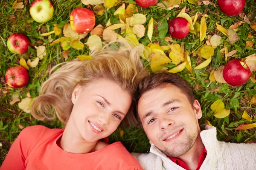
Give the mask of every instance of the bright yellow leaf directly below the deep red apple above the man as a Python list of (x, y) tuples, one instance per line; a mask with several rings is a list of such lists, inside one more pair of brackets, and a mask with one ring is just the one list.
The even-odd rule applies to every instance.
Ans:
[(184, 54), (180, 48), (179, 44), (172, 44), (170, 45), (171, 52), (169, 53), (170, 59), (175, 65), (178, 65), (180, 62), (184, 61)]

